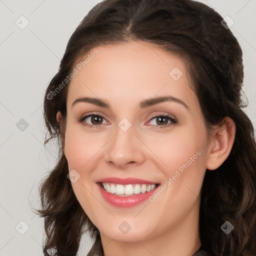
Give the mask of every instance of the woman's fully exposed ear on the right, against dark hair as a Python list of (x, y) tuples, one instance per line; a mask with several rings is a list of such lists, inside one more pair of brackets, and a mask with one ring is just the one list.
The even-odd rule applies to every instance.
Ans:
[(223, 124), (213, 132), (206, 161), (206, 168), (218, 168), (228, 157), (234, 142), (235, 123), (230, 117), (223, 119)]

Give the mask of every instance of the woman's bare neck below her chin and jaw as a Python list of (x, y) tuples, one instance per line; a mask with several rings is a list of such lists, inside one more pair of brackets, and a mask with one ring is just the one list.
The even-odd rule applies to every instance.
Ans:
[(195, 208), (186, 215), (186, 218), (177, 223), (175, 227), (169, 228), (160, 235), (151, 236), (150, 239), (124, 242), (100, 233), (103, 256), (193, 255), (201, 245), (198, 224), (199, 203), (200, 200), (194, 205)]

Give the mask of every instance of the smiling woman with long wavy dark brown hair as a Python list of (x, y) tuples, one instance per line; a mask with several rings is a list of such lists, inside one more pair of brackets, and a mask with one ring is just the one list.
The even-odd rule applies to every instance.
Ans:
[(105, 0), (44, 98), (59, 161), (40, 187), (44, 255), (255, 255), (256, 145), (242, 51), (191, 0)]

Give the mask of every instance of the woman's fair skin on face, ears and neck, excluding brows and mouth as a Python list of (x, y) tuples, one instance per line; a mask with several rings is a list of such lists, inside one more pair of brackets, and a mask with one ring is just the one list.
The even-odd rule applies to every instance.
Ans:
[[(227, 158), (235, 124), (226, 117), (221, 127), (213, 127), (207, 140), (201, 108), (180, 58), (141, 41), (97, 49), (69, 84), (66, 119), (60, 112), (56, 116), (62, 127), (65, 121), (62, 131), (68, 169), (80, 175), (71, 183), (74, 193), (100, 231), (105, 256), (191, 256), (201, 245), (198, 218), (205, 170), (214, 170)], [(183, 73), (178, 80), (169, 75), (175, 66)], [(166, 95), (182, 100), (189, 109), (174, 101), (139, 108), (143, 99)], [(111, 109), (88, 102), (71, 106), (85, 96), (107, 100)], [(77, 121), (91, 112), (103, 119), (95, 121), (90, 116), (83, 123)], [(153, 114), (169, 114), (177, 123), (166, 120), (160, 124)], [(127, 131), (118, 127), (123, 118), (131, 124)], [(100, 125), (84, 126), (86, 122)], [(114, 207), (95, 184), (99, 178), (115, 176), (162, 185), (198, 151), (200, 156), (153, 202)], [(127, 233), (118, 228), (123, 221), (131, 226)]]

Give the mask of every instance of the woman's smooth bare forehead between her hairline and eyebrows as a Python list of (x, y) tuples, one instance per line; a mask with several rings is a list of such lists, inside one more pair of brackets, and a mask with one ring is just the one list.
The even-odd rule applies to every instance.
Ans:
[[(90, 54), (95, 49), (97, 53)], [(101, 45), (79, 61), (69, 84), (67, 105), (82, 96), (126, 105), (162, 95), (196, 100), (182, 60), (155, 44), (131, 41)]]

